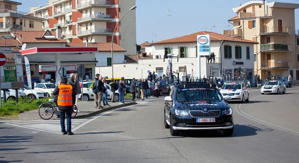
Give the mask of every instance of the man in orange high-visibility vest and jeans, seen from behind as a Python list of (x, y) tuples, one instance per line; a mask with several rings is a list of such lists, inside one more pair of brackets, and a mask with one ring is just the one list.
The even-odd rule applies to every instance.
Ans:
[[(71, 85), (67, 84), (66, 77), (61, 78), (61, 84), (54, 89), (53, 95), (58, 95), (57, 104), (58, 109), (60, 110), (60, 126), (62, 135), (73, 135), (71, 115), (76, 102), (76, 92)], [(64, 125), (65, 117), (66, 130)]]

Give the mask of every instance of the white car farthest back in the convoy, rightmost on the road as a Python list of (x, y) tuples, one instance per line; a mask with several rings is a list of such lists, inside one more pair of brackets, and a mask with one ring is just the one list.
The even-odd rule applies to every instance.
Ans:
[(267, 81), (261, 88), (261, 94), (265, 93), (286, 93), (286, 85), (281, 80), (270, 80)]

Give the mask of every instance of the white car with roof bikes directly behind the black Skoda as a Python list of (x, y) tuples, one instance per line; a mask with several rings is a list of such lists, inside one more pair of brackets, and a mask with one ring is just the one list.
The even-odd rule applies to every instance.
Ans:
[(223, 97), (231, 97), (231, 99), (227, 101), (239, 101), (242, 103), (244, 103), (244, 101), (249, 102), (249, 91), (244, 83), (225, 83), (222, 86), (220, 93)]

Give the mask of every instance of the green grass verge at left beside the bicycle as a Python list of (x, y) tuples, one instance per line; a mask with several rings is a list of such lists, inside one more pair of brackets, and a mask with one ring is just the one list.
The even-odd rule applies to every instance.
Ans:
[(30, 100), (28, 98), (20, 98), (18, 103), (15, 100), (7, 100), (6, 103), (2, 100), (2, 107), (0, 107), (0, 117), (16, 118), (19, 113), (25, 111), (36, 110), (42, 102), (48, 102), (46, 99)]

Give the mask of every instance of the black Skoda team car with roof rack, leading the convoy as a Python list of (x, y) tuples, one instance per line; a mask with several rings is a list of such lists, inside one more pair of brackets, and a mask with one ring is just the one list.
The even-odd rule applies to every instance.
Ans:
[(233, 111), (225, 102), (229, 97), (223, 99), (208, 78), (175, 85), (165, 97), (164, 128), (170, 128), (171, 136), (186, 130), (223, 130), (225, 136), (233, 134)]

